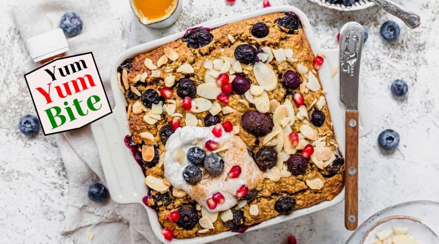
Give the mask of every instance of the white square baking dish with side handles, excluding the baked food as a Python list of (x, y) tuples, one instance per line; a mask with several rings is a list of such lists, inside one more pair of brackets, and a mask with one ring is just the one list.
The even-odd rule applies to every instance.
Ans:
[[(344, 155), (344, 112), (345, 107), (343, 103), (339, 101), (339, 75), (332, 76), (333, 67), (339, 65), (339, 51), (333, 50), (320, 50), (317, 41), (314, 39), (311, 24), (306, 15), (296, 7), (293, 6), (276, 6), (260, 9), (258, 11), (239, 15), (235, 18), (228, 18), (227, 20), (212, 20), (205, 23), (201, 23), (197, 26), (215, 28), (221, 25), (237, 22), (253, 18), (259, 15), (265, 15), (275, 12), (289, 12), (296, 13), (303, 25), (305, 35), (311, 45), (314, 54), (324, 54), (326, 56), (322, 67), (319, 70), (319, 78), (322, 83), (323, 89), (327, 91), (326, 100), (330, 110), (331, 120), (335, 131), (336, 138), (339, 140), (339, 149)], [(171, 41), (175, 41), (184, 35), (185, 31), (170, 35), (164, 38), (160, 38), (155, 41), (143, 43), (132, 48), (127, 49), (114, 61), (111, 67), (111, 88), (115, 99), (115, 108), (113, 114), (97, 121), (92, 124), (93, 134), (98, 146), (100, 160), (102, 162), (102, 168), (107, 181), (107, 186), (110, 191), (111, 198), (116, 203), (142, 203), (142, 197), (147, 195), (147, 186), (144, 183), (144, 176), (141, 172), (139, 165), (134, 160), (131, 152), (124, 145), (124, 137), (130, 134), (128, 122), (126, 119), (127, 102), (125, 96), (120, 92), (117, 81), (117, 67), (124, 60), (133, 58), (141, 53), (153, 50), (163, 44)], [(361, 93), (359, 94), (359, 136), (363, 137), (372, 131), (372, 125), (368, 117), (368, 112), (365, 107), (365, 102), (361, 99)], [(299, 209), (294, 211), (290, 215), (279, 215), (276, 218), (264, 221), (258, 225), (250, 227), (247, 231), (261, 229), (273, 224), (278, 224), (287, 220), (297, 218), (309, 213), (319, 211), (324, 208), (328, 208), (337, 203), (342, 202), (344, 199), (344, 190), (339, 193), (332, 201), (325, 201), (318, 203), (308, 208)], [(158, 221), (156, 212), (145, 206), (148, 214), (151, 227), (163, 243), (169, 243), (161, 234), (161, 226)], [(191, 239), (174, 239), (172, 243), (189, 244), (189, 243), (207, 243), (216, 241), (222, 238), (237, 235), (237, 232), (222, 232), (217, 235), (196, 237)]]

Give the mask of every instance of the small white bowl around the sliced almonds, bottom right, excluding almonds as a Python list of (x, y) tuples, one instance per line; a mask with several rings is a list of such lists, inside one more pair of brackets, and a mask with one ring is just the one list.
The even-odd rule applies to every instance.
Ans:
[(379, 231), (392, 229), (392, 227), (406, 227), (409, 229), (408, 234), (413, 236), (418, 243), (438, 244), (439, 239), (436, 233), (424, 224), (421, 220), (405, 216), (394, 215), (379, 220), (366, 231), (360, 244), (372, 244)]

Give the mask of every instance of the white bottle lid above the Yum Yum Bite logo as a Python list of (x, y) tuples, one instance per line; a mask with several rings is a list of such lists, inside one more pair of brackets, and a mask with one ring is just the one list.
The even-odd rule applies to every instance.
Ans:
[(26, 43), (34, 62), (48, 59), (69, 50), (69, 44), (60, 28), (31, 37)]

